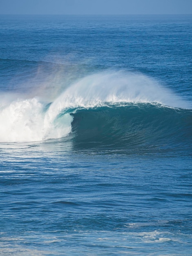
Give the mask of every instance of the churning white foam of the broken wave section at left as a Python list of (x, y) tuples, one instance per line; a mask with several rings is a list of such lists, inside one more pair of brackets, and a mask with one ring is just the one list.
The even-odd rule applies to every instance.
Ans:
[(0, 142), (29, 142), (60, 138), (71, 131), (72, 117), (47, 122), (38, 99), (18, 99), (0, 109)]

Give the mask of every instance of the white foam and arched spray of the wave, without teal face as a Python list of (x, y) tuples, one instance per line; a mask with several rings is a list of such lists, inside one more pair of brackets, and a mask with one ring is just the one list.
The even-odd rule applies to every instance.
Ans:
[(143, 74), (101, 72), (70, 85), (45, 110), (38, 98), (1, 97), (0, 142), (30, 142), (60, 138), (71, 131), (68, 108), (103, 106), (106, 102), (161, 103), (190, 108), (170, 90)]

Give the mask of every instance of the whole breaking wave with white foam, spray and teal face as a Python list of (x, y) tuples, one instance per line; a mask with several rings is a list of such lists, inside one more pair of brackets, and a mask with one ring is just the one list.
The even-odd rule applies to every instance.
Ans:
[(187, 146), (192, 112), (154, 79), (140, 73), (107, 71), (69, 85), (53, 102), (4, 94), (0, 142), (58, 139), (113, 146)]

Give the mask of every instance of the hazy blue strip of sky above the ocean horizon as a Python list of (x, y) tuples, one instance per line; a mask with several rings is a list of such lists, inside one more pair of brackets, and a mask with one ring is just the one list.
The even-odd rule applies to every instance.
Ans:
[(0, 14), (192, 14), (192, 0), (0, 0)]

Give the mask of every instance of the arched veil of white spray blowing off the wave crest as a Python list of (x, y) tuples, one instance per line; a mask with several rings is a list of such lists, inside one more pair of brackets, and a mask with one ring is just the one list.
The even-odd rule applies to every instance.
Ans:
[(176, 108), (190, 108), (154, 79), (141, 73), (107, 71), (85, 76), (67, 88), (50, 106), (54, 117), (66, 108), (93, 108), (106, 102), (160, 103)]

